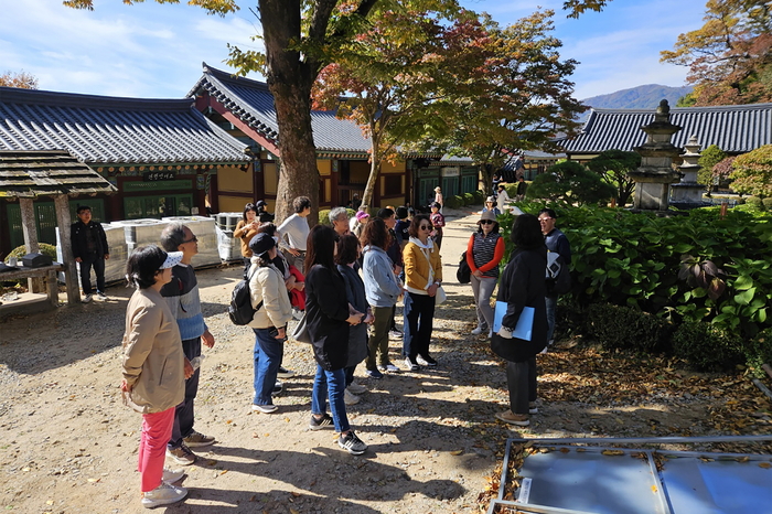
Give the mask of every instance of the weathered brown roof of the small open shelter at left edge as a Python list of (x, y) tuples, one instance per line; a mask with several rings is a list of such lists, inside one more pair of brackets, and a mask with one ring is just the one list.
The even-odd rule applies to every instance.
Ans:
[(99, 173), (64, 150), (0, 150), (0, 197), (115, 193)]

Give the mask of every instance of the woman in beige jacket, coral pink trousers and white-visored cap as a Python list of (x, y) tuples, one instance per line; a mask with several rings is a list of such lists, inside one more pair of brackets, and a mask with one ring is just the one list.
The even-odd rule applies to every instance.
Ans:
[(126, 308), (120, 390), (124, 403), (142, 415), (137, 469), (144, 507), (175, 503), (187, 494), (172, 485), (184, 473), (163, 468), (174, 407), (184, 399), (185, 378), (193, 374), (176, 320), (161, 297), (181, 260), (181, 251), (167, 254), (150, 245), (135, 249), (126, 264), (126, 280), (136, 291)]

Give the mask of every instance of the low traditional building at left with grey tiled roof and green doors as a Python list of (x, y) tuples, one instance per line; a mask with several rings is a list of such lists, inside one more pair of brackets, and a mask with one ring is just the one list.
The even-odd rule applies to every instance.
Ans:
[[(0, 87), (0, 150), (66, 150), (116, 186), (69, 201), (94, 219), (205, 214), (218, 172), (246, 173), (253, 157), (193, 100), (116, 98)], [(0, 253), (23, 243), (19, 203), (0, 199)], [(53, 202), (35, 203), (41, 243), (56, 243)]]

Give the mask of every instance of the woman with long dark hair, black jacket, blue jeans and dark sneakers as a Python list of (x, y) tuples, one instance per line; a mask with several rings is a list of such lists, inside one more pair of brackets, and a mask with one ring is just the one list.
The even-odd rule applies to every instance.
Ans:
[[(349, 326), (362, 323), (366, 314), (349, 307), (346, 285), (334, 261), (335, 239), (335, 231), (317, 225), (309, 234), (305, 251), (305, 323), (317, 360), (309, 428), (318, 430), (334, 424), (341, 433), (337, 445), (360, 456), (367, 445), (349, 425), (343, 400), (344, 367), (349, 361)], [(326, 414), (328, 396), (332, 417)]]

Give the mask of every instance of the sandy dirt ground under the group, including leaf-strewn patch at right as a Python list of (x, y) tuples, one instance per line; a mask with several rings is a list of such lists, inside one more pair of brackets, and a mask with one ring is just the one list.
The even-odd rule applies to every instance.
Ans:
[[(449, 301), (438, 309), (432, 343), (440, 365), (382, 381), (357, 368), (357, 381), (371, 389), (349, 408), (352, 426), (369, 445), (363, 457), (340, 450), (330, 430), (307, 429), (315, 367), (307, 345), (287, 345), (285, 365), (298, 375), (285, 381), (278, 413), (250, 413), (254, 335), (226, 314), (240, 267), (199, 271), (204, 315), (217, 343), (202, 365), (196, 428), (218, 442), (186, 468), (187, 500), (164, 512), (479, 512), (486, 476), (506, 437), (517, 432), (493, 418), (507, 401), (504, 371), (485, 340), (469, 335), (471, 290), (453, 283), (476, 216), (455, 211), (448, 217), (442, 260)], [(108, 302), (0, 324), (0, 506), (7, 512), (142, 511), (135, 471), (140, 416), (121, 405), (117, 387), (130, 292), (114, 287)], [(399, 365), (400, 347), (390, 341)], [(618, 363), (603, 358), (578, 351), (540, 357), (545, 401), (528, 433), (709, 435), (735, 416), (725, 401), (736, 399), (712, 395), (708, 385), (690, 383), (686, 399), (668, 388), (684, 377), (620, 386)], [(742, 408), (755, 413), (742, 411), (751, 419), (746, 432), (769, 431), (763, 405)]]

